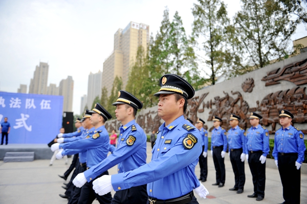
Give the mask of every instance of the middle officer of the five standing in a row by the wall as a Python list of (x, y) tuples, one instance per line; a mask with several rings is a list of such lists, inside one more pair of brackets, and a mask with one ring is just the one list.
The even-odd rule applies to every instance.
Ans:
[(230, 191), (243, 193), (245, 184), (244, 161), (246, 157), (245, 130), (238, 126), (240, 117), (231, 114), (229, 123), (231, 128), (227, 132), (230, 162), (232, 165), (235, 185)]

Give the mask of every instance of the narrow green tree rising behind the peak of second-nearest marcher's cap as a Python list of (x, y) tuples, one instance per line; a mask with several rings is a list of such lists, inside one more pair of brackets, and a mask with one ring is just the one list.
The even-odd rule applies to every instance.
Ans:
[(113, 81), (113, 86), (111, 90), (111, 95), (109, 96), (106, 104), (106, 110), (111, 114), (112, 118), (115, 119), (115, 109), (116, 106), (113, 106), (112, 103), (116, 102), (118, 98), (118, 92), (122, 89), (123, 81), (121, 77), (116, 76)]

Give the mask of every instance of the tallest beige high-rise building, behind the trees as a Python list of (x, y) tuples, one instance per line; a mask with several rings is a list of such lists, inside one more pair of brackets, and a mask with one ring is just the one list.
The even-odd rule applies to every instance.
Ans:
[(121, 77), (123, 89), (127, 85), (129, 69), (135, 62), (138, 47), (142, 46), (147, 52), (149, 43), (149, 26), (129, 22), (124, 30), (118, 29), (114, 34), (114, 50), (103, 62), (102, 87), (106, 87), (108, 96), (111, 95), (113, 81)]

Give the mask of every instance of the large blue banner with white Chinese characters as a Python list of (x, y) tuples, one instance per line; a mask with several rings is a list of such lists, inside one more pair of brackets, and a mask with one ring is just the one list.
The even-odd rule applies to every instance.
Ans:
[(8, 118), (9, 144), (48, 144), (62, 126), (63, 96), (0, 92), (0, 123)]

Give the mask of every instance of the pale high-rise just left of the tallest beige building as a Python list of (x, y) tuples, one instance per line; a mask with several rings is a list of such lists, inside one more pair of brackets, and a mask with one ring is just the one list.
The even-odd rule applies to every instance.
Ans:
[(92, 72), (89, 75), (89, 84), (87, 86), (87, 108), (91, 108), (95, 98), (101, 98), (102, 91), (102, 72), (99, 70), (97, 73)]

